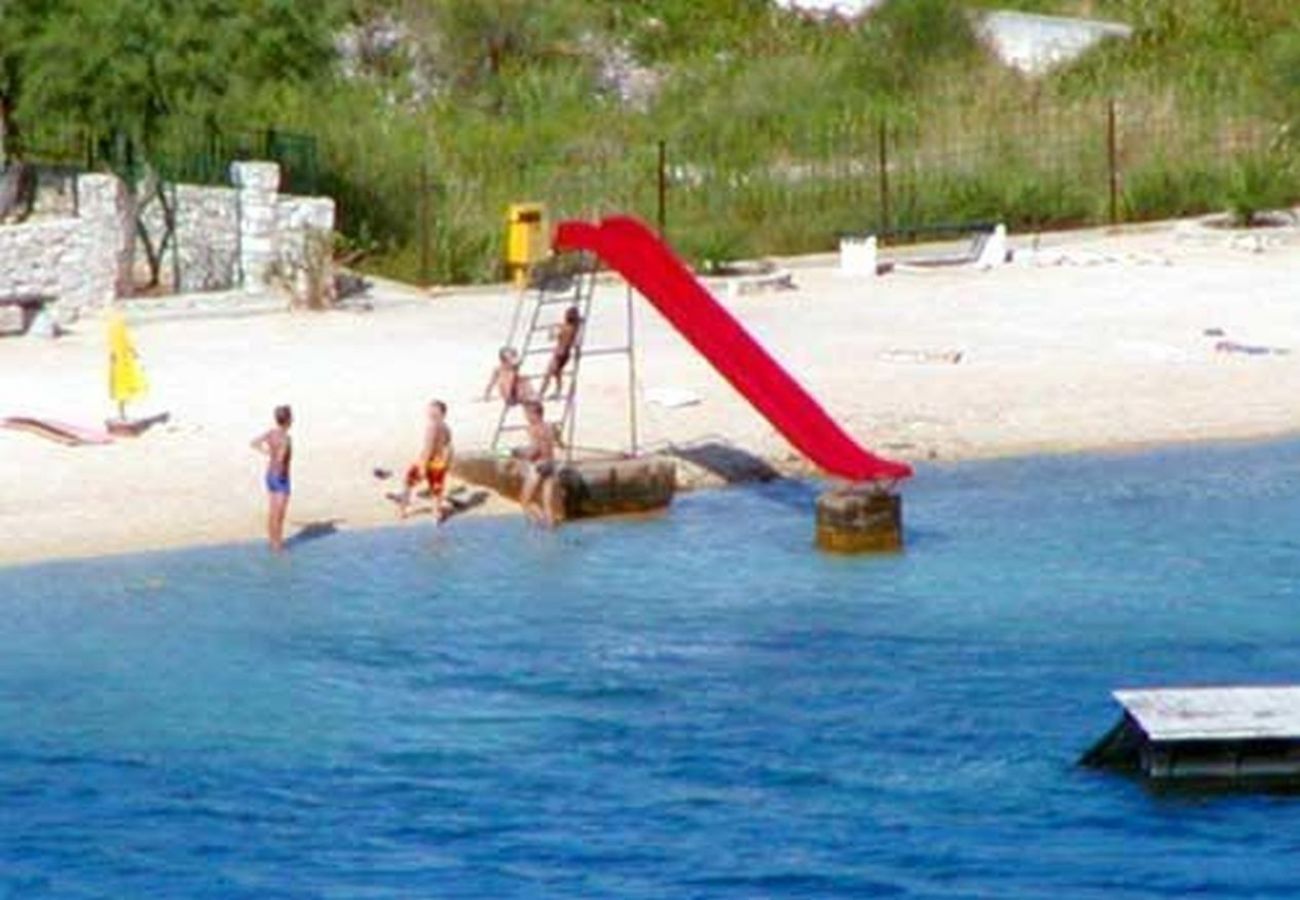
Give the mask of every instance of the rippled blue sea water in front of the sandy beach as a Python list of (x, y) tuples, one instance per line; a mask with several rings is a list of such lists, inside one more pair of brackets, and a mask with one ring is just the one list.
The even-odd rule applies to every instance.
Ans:
[(1300, 797), (1076, 766), (1300, 680), (1300, 445), (0, 571), (0, 896), (1288, 897)]

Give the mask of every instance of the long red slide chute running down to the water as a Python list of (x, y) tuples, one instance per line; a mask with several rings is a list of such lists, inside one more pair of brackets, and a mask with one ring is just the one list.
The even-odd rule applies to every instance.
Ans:
[(876, 457), (849, 437), (636, 218), (560, 222), (554, 243), (558, 251), (590, 251), (627, 278), (790, 443), (831, 475), (852, 481), (911, 475), (906, 463)]

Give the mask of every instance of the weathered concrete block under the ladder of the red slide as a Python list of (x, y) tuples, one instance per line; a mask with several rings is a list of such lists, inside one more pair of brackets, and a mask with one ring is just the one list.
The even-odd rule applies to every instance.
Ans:
[[(525, 463), (493, 454), (462, 454), (452, 473), (517, 501)], [(677, 490), (677, 464), (667, 457), (581, 459), (562, 464), (559, 484), (564, 519), (658, 512)]]

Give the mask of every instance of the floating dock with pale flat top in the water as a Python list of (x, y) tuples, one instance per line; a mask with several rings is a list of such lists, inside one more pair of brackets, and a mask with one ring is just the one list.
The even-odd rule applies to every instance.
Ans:
[(1086, 766), (1152, 782), (1300, 786), (1300, 687), (1115, 691), (1121, 721)]

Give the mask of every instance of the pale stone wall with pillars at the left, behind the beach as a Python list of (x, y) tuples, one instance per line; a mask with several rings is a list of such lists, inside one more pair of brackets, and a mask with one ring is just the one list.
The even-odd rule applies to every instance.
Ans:
[[(312, 229), (334, 229), (334, 202), (278, 194), (274, 163), (235, 163), (230, 174), (233, 187), (164, 187), (176, 212), (174, 246), (160, 272), (164, 286), (265, 290), (277, 263), (302, 260)], [(162, 239), (157, 199), (144, 205), (139, 222), (155, 245)], [(125, 185), (114, 176), (83, 174), (75, 215), (0, 225), (0, 299), (52, 297), (61, 313), (72, 315), (129, 297), (144, 260)]]

